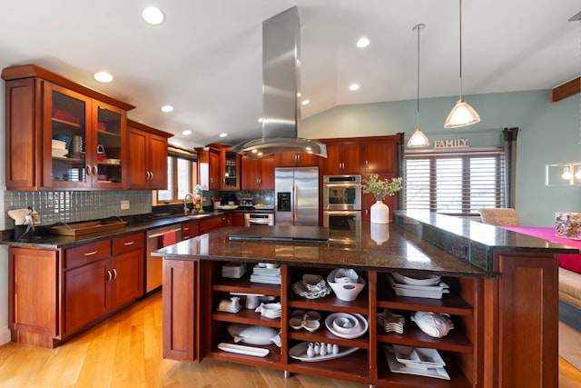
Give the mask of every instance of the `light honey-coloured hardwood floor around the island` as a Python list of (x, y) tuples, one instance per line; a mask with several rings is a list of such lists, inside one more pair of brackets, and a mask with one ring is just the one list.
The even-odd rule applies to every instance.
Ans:
[[(367, 385), (248, 365), (162, 358), (162, 293), (155, 293), (56, 349), (0, 347), (0, 387), (363, 388)], [(581, 372), (559, 358), (559, 386), (581, 386)]]

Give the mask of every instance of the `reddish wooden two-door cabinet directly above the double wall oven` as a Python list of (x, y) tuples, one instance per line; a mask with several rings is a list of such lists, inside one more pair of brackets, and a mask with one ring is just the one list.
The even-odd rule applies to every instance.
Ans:
[(360, 174), (362, 143), (340, 142), (326, 144), (327, 158), (320, 159), (321, 174)]

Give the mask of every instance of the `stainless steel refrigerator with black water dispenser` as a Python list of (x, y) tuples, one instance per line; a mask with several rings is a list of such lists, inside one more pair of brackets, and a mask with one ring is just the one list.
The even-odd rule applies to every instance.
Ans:
[(274, 224), (319, 226), (319, 167), (274, 170)]

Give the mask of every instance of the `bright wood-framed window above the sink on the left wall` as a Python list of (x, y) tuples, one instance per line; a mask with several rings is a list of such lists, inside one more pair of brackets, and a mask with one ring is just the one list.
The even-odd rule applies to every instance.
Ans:
[(172, 152), (172, 147), (168, 154), (167, 189), (157, 191), (156, 204), (182, 202), (185, 194), (193, 193), (193, 186), (198, 181), (198, 163), (191, 155), (183, 154), (183, 151)]

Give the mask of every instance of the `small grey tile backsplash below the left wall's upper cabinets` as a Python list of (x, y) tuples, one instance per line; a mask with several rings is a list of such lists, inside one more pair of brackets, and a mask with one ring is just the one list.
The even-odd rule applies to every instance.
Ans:
[[(113, 215), (152, 213), (152, 191), (6, 191), (5, 211), (28, 206), (41, 215), (41, 225), (98, 220)], [(121, 209), (129, 201), (129, 209)], [(6, 215), (4, 229), (14, 229), (14, 220)]]

